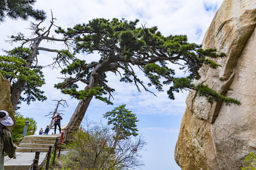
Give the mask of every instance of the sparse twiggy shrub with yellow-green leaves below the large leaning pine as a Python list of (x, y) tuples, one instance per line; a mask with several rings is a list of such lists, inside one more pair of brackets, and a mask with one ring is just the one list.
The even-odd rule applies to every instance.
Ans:
[(109, 126), (88, 122), (84, 125), (84, 128), (73, 134), (70, 151), (64, 158), (66, 168), (128, 170), (144, 165), (139, 154), (146, 144), (142, 136), (116, 141), (115, 132)]

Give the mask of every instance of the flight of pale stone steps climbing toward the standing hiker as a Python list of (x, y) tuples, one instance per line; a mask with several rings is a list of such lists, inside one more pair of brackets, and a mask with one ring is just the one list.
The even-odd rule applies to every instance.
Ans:
[(16, 152), (47, 152), (61, 134), (24, 136)]

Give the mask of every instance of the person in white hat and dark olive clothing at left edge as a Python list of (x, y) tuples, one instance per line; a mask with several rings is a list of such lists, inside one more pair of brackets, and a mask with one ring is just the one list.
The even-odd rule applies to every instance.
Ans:
[(13, 125), (13, 120), (5, 110), (0, 110), (0, 170), (4, 170), (4, 152), (9, 158), (16, 159), (16, 147), (12, 143), (12, 132), (6, 126)]

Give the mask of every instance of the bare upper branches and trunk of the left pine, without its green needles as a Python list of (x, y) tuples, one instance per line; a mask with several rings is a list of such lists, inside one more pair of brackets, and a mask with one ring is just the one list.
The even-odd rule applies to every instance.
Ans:
[[(51, 28), (54, 26), (55, 18), (52, 15), (52, 19), (50, 21), (50, 25), (48, 28), (41, 27), (40, 24), (43, 22), (39, 22), (38, 24), (31, 23), (30, 29), (32, 30), (32, 34), (29, 36), (26, 36), (22, 33), (18, 33), (17, 35), (11, 35), (7, 42), (13, 43), (13, 42), (21, 42), (22, 46), (25, 44), (29, 44), (29, 50), (30, 53), (24, 58), (26, 61), (26, 64), (23, 67), (26, 68), (33, 68), (33, 67), (41, 67), (40, 63), (37, 62), (37, 58), (39, 57), (39, 51), (48, 51), (48, 52), (55, 52), (56, 57), (54, 58), (53, 63), (49, 63), (49, 66), (57, 66), (62, 67), (63, 65), (70, 64), (70, 60), (74, 60), (74, 56), (69, 52), (69, 50), (57, 50), (57, 49), (49, 49), (45, 47), (41, 47), (40, 43), (43, 41), (46, 42), (64, 42), (64, 44), (68, 47), (70, 45), (68, 38), (55, 38), (54, 35), (50, 34)], [(14, 55), (14, 54), (13, 54)], [(17, 51), (17, 54), (15, 55), (18, 57), (19, 53)], [(16, 110), (18, 103), (20, 102), (20, 95), (21, 93), (26, 90), (26, 81), (23, 79), (18, 78), (16, 82), (14, 82), (11, 85), (11, 103), (13, 110)], [(30, 86), (30, 88), (33, 88)]]

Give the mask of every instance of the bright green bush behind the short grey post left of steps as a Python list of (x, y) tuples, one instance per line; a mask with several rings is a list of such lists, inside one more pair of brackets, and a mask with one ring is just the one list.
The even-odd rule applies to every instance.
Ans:
[(28, 118), (28, 117), (24, 118), (23, 115), (21, 115), (20, 113), (16, 113), (15, 119), (16, 119), (16, 126), (12, 130), (13, 140), (22, 137), (25, 121), (29, 121), (29, 124), (27, 127), (27, 135), (33, 135), (34, 128), (35, 128), (35, 131), (37, 130), (37, 122), (33, 118)]

